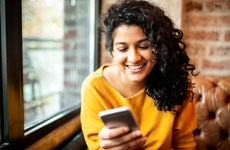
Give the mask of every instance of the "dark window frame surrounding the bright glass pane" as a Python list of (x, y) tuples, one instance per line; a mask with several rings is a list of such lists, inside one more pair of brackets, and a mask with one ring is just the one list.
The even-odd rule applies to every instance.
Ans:
[[(65, 111), (49, 120), (24, 130), (24, 100), (23, 100), (23, 65), (22, 65), (22, 0), (1, 0), (1, 139), (2, 147), (24, 147), (34, 143), (50, 131), (61, 126), (80, 114), (80, 108)], [(94, 71), (99, 65), (99, 34), (96, 18), (99, 14), (100, 1), (91, 0), (94, 7), (91, 27), (94, 34), (93, 55), (90, 64)], [(92, 53), (90, 51), (90, 53)], [(3, 108), (3, 109), (2, 109)], [(22, 144), (23, 143), (23, 144)]]

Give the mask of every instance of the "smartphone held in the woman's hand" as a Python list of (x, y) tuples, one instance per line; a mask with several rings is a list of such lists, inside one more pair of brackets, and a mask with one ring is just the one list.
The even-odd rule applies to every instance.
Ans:
[(139, 129), (132, 112), (126, 106), (101, 111), (99, 117), (108, 128), (127, 126), (130, 130)]

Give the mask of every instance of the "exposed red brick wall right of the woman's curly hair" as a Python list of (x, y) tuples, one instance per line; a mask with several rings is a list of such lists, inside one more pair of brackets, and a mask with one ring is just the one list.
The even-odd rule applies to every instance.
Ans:
[(182, 30), (200, 74), (230, 75), (230, 1), (183, 0)]

